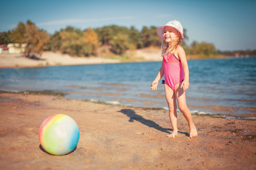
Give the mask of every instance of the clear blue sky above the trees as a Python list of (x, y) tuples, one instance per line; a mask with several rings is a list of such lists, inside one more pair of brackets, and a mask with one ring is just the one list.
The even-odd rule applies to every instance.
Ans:
[(187, 29), (188, 44), (208, 42), (218, 50), (256, 49), (255, 0), (180, 1), (3, 1), (0, 32), (28, 19), (48, 33), (71, 25), (84, 30), (105, 25), (160, 27), (179, 20)]

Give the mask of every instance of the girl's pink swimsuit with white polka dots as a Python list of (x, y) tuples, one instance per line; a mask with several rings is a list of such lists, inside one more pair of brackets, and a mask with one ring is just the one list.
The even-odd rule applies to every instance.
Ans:
[(173, 91), (175, 85), (183, 82), (184, 74), (180, 60), (174, 55), (169, 54), (166, 57), (166, 52), (163, 54), (164, 64), (164, 84), (169, 86)]

